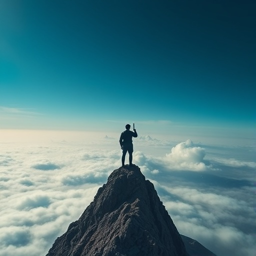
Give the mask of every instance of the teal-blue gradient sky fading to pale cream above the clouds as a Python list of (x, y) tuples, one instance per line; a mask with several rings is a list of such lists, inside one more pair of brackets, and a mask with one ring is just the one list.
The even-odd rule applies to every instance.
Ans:
[(251, 0), (1, 0), (0, 128), (255, 124)]

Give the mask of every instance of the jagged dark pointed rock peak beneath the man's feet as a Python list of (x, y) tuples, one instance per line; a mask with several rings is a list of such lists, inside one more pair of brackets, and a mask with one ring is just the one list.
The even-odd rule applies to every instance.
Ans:
[(188, 256), (153, 184), (140, 169), (114, 170), (46, 256)]

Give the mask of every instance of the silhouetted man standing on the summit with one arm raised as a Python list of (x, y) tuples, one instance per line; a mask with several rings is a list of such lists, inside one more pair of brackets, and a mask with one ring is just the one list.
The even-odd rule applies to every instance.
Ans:
[(137, 137), (138, 134), (136, 129), (133, 131), (130, 130), (130, 125), (125, 125), (126, 130), (124, 130), (119, 139), (119, 143), (122, 149), (122, 166), (124, 166), (125, 155), (128, 151), (129, 153), (129, 165), (132, 165), (132, 152), (133, 152), (133, 145), (132, 145), (132, 137)]

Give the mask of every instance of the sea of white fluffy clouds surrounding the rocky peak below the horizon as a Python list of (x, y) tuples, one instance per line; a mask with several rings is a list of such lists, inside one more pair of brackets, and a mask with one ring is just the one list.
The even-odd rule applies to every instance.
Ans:
[[(45, 255), (120, 167), (118, 136), (74, 137), (1, 139), (0, 255)], [(218, 256), (254, 256), (253, 155), (252, 146), (141, 136), (134, 139), (133, 162), (181, 234)]]

